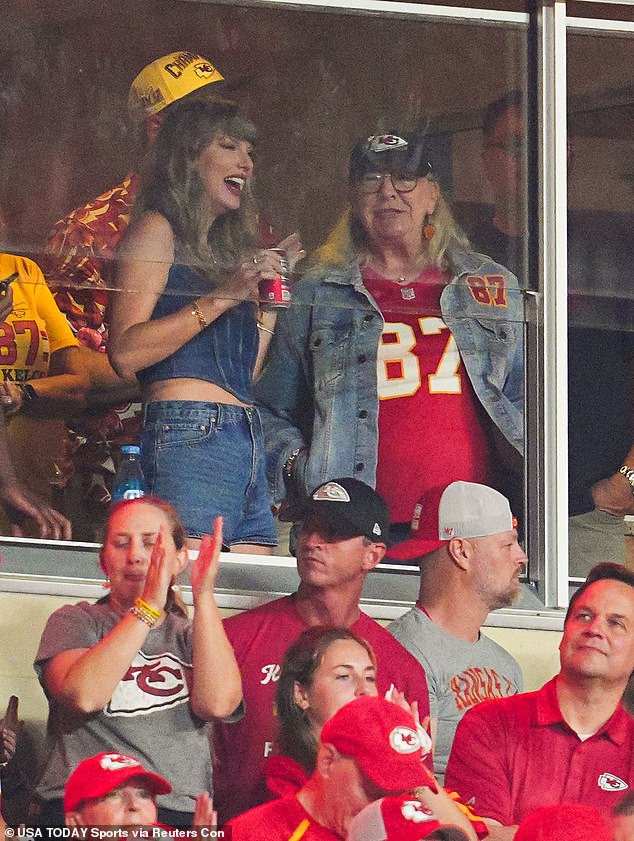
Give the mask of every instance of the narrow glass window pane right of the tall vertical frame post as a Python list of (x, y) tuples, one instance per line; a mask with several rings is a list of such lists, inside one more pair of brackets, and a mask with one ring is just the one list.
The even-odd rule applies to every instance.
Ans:
[[(607, 15), (605, 15), (607, 17)], [(634, 34), (568, 35), (570, 573), (623, 562), (634, 513)], [(592, 67), (592, 73), (588, 73)], [(631, 538), (630, 538), (631, 540)]]

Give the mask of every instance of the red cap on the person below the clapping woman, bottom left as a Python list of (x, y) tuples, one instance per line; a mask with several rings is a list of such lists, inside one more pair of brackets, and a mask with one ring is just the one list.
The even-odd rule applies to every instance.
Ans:
[(166, 779), (146, 771), (138, 759), (123, 753), (98, 753), (84, 759), (68, 778), (64, 791), (64, 811), (74, 812), (82, 800), (103, 797), (131, 777), (144, 780), (154, 794), (169, 794)]

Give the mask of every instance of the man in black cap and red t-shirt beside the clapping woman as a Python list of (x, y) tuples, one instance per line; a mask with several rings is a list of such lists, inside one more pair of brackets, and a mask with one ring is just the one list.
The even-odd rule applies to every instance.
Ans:
[(365, 579), (386, 551), (389, 516), (383, 499), (358, 479), (332, 479), (302, 501), (297, 540), (297, 592), (230, 616), (224, 622), (242, 674), (245, 716), (218, 723), (216, 755), (223, 774), (214, 781), (220, 822), (268, 799), (262, 774), (276, 737), (275, 686), (287, 648), (308, 627), (350, 628), (376, 655), (377, 684), (390, 684), (429, 711), (425, 672), (383, 626), (359, 609)]

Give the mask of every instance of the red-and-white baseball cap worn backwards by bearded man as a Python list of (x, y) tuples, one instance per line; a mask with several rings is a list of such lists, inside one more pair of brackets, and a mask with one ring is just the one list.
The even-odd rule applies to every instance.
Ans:
[(411, 561), (452, 537), (487, 537), (511, 531), (517, 520), (508, 499), (477, 482), (451, 482), (426, 491), (414, 508), (409, 540), (387, 550), (385, 560)]

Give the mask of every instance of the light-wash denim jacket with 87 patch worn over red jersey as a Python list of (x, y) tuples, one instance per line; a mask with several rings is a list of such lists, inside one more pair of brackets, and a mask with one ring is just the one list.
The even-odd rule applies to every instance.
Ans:
[[(474, 391), (500, 431), (524, 449), (524, 307), (517, 280), (488, 257), (462, 252), (440, 307)], [(286, 496), (283, 468), (297, 490), (354, 476), (376, 483), (377, 351), (383, 317), (358, 265), (316, 266), (293, 287), (256, 384), (274, 501)]]

